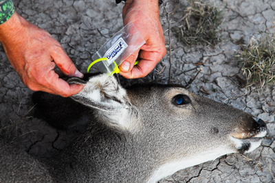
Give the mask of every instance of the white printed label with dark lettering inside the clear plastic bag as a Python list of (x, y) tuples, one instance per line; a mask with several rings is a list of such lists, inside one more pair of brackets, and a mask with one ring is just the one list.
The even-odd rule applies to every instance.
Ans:
[(110, 49), (108, 49), (108, 51), (106, 51), (106, 53), (104, 54), (103, 58), (108, 59), (104, 60), (105, 64), (109, 66), (111, 63), (113, 63), (113, 61), (115, 61), (121, 55), (121, 53), (124, 51), (124, 49), (126, 49), (126, 47), (128, 47), (126, 42), (122, 38), (119, 38), (115, 42), (115, 44), (113, 44), (113, 46)]

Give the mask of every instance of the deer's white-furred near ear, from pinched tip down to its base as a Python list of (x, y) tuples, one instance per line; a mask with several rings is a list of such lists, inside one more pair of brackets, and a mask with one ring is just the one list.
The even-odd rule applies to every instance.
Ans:
[[(79, 80), (72, 78), (68, 82), (82, 84)], [(140, 126), (140, 123), (135, 122), (137, 111), (131, 106), (126, 90), (113, 76), (102, 74), (90, 77), (83, 90), (71, 98), (96, 109), (96, 117), (109, 127), (135, 131)]]

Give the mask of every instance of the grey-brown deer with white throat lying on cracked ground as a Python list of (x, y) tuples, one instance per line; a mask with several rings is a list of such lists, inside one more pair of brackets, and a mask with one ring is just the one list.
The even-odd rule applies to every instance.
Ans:
[(80, 93), (32, 99), (58, 129), (83, 130), (61, 154), (37, 159), (1, 142), (0, 182), (147, 182), (261, 145), (265, 122), (178, 84), (122, 86), (115, 77), (72, 77)]

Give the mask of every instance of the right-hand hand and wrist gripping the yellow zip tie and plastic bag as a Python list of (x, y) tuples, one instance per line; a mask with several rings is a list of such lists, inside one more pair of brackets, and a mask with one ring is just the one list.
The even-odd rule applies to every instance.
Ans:
[[(146, 43), (120, 65), (120, 74), (126, 78), (144, 77), (166, 54), (165, 39), (159, 21), (157, 0), (127, 0), (122, 10), (124, 25), (133, 22)], [(135, 60), (140, 62), (134, 66)]]

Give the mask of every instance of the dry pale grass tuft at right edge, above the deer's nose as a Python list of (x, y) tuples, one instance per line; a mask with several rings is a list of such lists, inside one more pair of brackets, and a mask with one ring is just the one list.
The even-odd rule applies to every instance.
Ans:
[(241, 45), (236, 58), (243, 64), (243, 75), (247, 77), (249, 84), (261, 84), (264, 86), (275, 80), (275, 47), (274, 38), (262, 36), (252, 37), (248, 45)]

